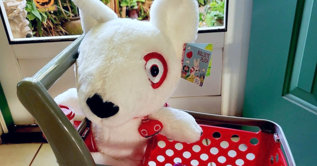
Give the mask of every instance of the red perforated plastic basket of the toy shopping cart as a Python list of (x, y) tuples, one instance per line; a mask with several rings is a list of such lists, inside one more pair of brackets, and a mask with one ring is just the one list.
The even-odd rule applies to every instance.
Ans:
[(181, 143), (163, 135), (152, 137), (146, 147), (143, 166), (287, 166), (273, 134), (248, 132), (217, 126), (200, 125), (201, 139)]

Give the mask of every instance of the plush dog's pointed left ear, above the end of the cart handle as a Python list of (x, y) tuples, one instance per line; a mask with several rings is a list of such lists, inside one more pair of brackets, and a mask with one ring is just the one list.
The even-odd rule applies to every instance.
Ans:
[(80, 9), (81, 26), (86, 34), (95, 25), (118, 18), (116, 13), (100, 0), (73, 0)]

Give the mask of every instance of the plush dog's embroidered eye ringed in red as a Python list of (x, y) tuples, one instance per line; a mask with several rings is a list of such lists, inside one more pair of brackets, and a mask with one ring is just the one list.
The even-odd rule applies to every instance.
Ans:
[(151, 52), (144, 56), (143, 59), (146, 61), (145, 70), (152, 83), (152, 88), (159, 88), (167, 75), (167, 63), (165, 58), (157, 52)]

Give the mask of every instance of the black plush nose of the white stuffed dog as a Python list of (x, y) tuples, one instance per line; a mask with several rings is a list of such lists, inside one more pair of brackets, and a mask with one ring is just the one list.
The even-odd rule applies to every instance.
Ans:
[(110, 101), (103, 102), (102, 97), (95, 94), (86, 101), (90, 110), (99, 118), (109, 118), (119, 112), (119, 107)]

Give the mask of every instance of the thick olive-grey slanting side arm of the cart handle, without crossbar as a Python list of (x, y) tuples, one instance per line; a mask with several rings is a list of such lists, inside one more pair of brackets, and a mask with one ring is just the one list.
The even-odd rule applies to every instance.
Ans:
[(35, 118), (60, 166), (95, 166), (84, 141), (40, 81), (25, 78), (17, 96)]

